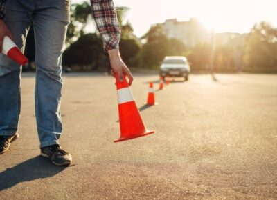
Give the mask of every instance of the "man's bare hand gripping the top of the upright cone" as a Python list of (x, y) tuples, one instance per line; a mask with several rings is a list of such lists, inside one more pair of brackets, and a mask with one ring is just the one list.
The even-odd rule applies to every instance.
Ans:
[(120, 57), (118, 49), (109, 50), (109, 59), (111, 61), (111, 75), (115, 77), (115, 74), (118, 73), (119, 81), (123, 81), (123, 76), (127, 75), (129, 79), (129, 86), (132, 85), (134, 80), (129, 68), (125, 65), (123, 60)]

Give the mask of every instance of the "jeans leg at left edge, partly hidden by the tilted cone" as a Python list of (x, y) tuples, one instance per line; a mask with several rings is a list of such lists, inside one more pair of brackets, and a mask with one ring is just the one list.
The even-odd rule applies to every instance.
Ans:
[[(26, 1), (22, 6), (20, 1), (7, 1), (6, 26), (14, 36), (19, 48), (24, 50), (24, 39), (30, 26), (31, 7)], [(20, 66), (10, 58), (0, 54), (0, 135), (11, 136), (17, 133), (20, 104)]]

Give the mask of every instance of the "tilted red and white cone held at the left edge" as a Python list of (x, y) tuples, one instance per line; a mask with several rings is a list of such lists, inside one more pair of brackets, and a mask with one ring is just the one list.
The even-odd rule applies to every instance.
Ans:
[(25, 66), (26, 63), (28, 63), (28, 59), (21, 53), (19, 48), (8, 36), (5, 36), (3, 39), (2, 53), (6, 54), (6, 56), (19, 63), (21, 66)]

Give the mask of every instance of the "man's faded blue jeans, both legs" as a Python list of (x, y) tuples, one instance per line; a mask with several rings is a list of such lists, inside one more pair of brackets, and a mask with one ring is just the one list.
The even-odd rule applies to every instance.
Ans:
[[(35, 114), (40, 147), (59, 143), (62, 134), (62, 50), (69, 24), (69, 0), (8, 0), (6, 25), (24, 50), (33, 21), (35, 30)], [(21, 66), (0, 54), (0, 135), (18, 132)]]

